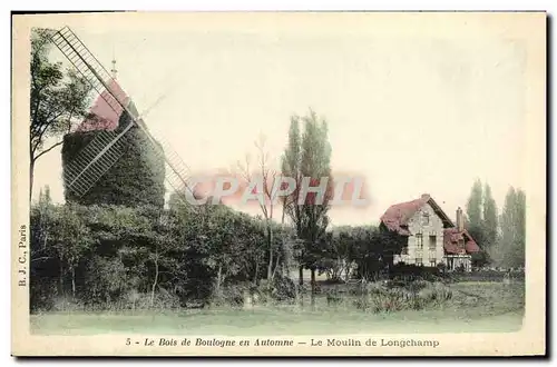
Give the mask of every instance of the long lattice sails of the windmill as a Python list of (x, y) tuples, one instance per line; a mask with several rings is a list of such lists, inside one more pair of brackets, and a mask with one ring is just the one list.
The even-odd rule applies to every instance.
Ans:
[[(179, 197), (186, 199), (186, 190), (193, 195), (188, 182), (189, 169), (179, 158), (170, 145), (160, 136), (149, 131), (144, 118), (135, 108), (127, 105), (121, 90), (114, 88), (114, 79), (81, 40), (69, 29), (55, 31), (51, 36), (52, 43), (62, 52), (69, 62), (81, 73), (91, 88), (120, 116), (126, 112), (128, 122), (120, 129), (98, 133), (78, 155), (66, 166), (66, 189), (71, 190), (77, 197), (87, 194), (95, 184), (124, 155), (128, 145), (131, 128), (138, 128), (146, 138), (150, 148), (164, 159), (166, 170), (165, 179)], [(157, 100), (158, 102), (158, 100)]]

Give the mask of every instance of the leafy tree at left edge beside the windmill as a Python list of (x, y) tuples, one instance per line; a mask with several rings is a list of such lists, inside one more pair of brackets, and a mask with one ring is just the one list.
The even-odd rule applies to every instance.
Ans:
[[(75, 70), (65, 72), (60, 62), (49, 61), (52, 47), (50, 32), (36, 29), (31, 33), (29, 200), (37, 160), (61, 145), (59, 137), (69, 132), (76, 119), (86, 115), (91, 90), (86, 79)], [(47, 146), (50, 138), (55, 141)]]

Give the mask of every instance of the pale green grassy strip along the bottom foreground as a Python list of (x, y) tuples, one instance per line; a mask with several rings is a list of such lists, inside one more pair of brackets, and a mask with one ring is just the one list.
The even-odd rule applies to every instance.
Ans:
[(426, 310), (365, 313), (315, 306), (261, 306), (252, 309), (203, 309), (141, 313), (50, 313), (31, 316), (36, 334), (94, 335), (118, 333), (182, 335), (319, 335), (409, 333), (501, 333), (520, 329), (524, 284), (460, 282), (453, 299)]

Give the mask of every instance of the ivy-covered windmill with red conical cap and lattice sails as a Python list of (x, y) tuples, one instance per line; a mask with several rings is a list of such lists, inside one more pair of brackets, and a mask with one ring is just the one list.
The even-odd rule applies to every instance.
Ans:
[(66, 198), (81, 204), (162, 206), (165, 180), (183, 199), (193, 195), (187, 166), (163, 137), (149, 131), (116, 82), (115, 63), (110, 75), (68, 27), (53, 32), (51, 40), (99, 93), (92, 113), (65, 137)]

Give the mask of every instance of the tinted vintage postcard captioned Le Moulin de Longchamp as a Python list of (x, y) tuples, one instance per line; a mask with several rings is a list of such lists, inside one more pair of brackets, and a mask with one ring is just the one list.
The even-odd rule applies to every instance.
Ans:
[(546, 24), (12, 14), (12, 355), (545, 355)]

